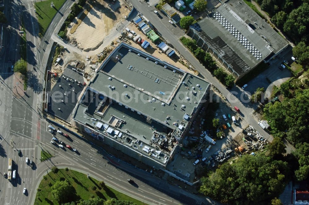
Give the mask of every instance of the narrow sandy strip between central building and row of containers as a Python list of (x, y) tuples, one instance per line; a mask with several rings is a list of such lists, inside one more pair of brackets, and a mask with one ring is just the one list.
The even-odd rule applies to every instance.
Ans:
[[(155, 45), (155, 43), (151, 42), (150, 39), (147, 39), (147, 36), (140, 30), (138, 30), (137, 26), (135, 26), (133, 23), (130, 23), (128, 28), (130, 30), (134, 30), (134, 32), (137, 34), (137, 35), (140, 35), (142, 39), (145, 39), (147, 40), (148, 42), (150, 42), (150, 46), (152, 47), (148, 47), (145, 51), (157, 58), (160, 58), (168, 63), (170, 63), (171, 65), (174, 65), (182, 70), (185, 70), (186, 72), (188, 73), (192, 73), (193, 74), (193, 70), (189, 70), (187, 66), (184, 66), (182, 63), (180, 63), (178, 61), (179, 57), (179, 54), (177, 54), (177, 52), (175, 51), (175, 54), (174, 55), (177, 55), (177, 56), (174, 56), (173, 58), (170, 58), (167, 56), (167, 54), (165, 53), (162, 53), (162, 51)], [(140, 46), (140, 44), (138, 44), (137, 42), (134, 42), (133, 41), (133, 38), (129, 41), (130, 45), (133, 46), (133, 47), (136, 47), (138, 49), (142, 49), (142, 47)], [(143, 50), (143, 49), (142, 49)], [(179, 59), (181, 60), (181, 59)]]

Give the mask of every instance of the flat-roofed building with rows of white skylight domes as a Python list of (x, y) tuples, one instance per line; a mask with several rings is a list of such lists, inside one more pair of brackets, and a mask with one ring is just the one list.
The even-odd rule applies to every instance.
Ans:
[(273, 28), (242, 0), (225, 1), (190, 26), (197, 45), (217, 59), (236, 79), (261, 62), (269, 62), (288, 46)]

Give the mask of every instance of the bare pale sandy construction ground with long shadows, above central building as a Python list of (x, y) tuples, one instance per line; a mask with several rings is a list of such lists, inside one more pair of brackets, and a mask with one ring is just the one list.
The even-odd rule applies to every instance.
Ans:
[[(86, 51), (98, 48), (104, 41), (104, 37), (129, 14), (128, 6), (124, 1), (119, 0), (114, 4), (110, 2), (112, 1), (87, 1), (87, 4), (90, 4), (88, 6), (93, 8), (73, 34), (70, 33), (70, 29), (67, 33), (70, 41), (76, 40), (78, 48)], [(71, 28), (76, 22), (74, 20), (71, 23)]]

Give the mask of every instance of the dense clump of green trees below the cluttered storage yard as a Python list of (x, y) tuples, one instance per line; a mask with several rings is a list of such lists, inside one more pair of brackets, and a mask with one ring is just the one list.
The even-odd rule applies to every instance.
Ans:
[(201, 178), (200, 192), (225, 204), (268, 204), (284, 190), (288, 170), (286, 162), (264, 152), (243, 155)]

